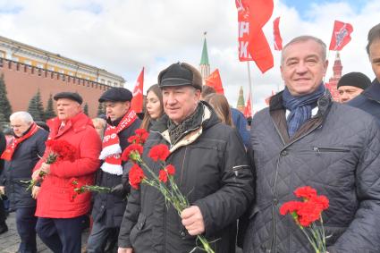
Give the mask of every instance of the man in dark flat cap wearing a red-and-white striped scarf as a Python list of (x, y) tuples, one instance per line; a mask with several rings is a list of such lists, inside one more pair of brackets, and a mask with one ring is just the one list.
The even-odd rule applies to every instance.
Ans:
[(131, 110), (131, 99), (131, 91), (124, 88), (108, 89), (99, 98), (99, 102), (106, 105), (107, 127), (99, 156), (104, 162), (97, 172), (97, 185), (113, 190), (111, 193), (95, 195), (92, 209), (94, 223), (89, 235), (88, 253), (113, 252), (117, 247), (117, 236), (127, 205), (125, 198), (129, 191), (129, 188), (122, 187), (123, 162), (120, 155), (129, 146), (127, 139), (135, 135), (135, 130), (141, 124), (136, 113)]

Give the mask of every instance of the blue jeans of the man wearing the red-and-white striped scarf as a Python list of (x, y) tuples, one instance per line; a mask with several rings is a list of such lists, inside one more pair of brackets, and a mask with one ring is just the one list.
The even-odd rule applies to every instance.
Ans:
[(106, 228), (105, 224), (94, 222), (92, 223), (91, 234), (87, 242), (87, 253), (103, 253), (112, 252), (113, 245), (110, 245), (106, 249), (106, 243), (117, 243), (117, 237), (119, 235), (119, 228)]

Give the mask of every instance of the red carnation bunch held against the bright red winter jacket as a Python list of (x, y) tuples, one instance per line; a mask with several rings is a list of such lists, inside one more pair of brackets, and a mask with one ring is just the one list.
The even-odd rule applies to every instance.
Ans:
[[(68, 141), (64, 139), (48, 139), (46, 140), (45, 144), (46, 148), (49, 150), (49, 154), (46, 157), (46, 164), (54, 164), (60, 161), (73, 162), (75, 160), (77, 149)], [(41, 179), (44, 179), (45, 175), (46, 173), (44, 171), (40, 171), (38, 173), (38, 176)], [(32, 189), (33, 186), (37, 184), (37, 181), (34, 180), (22, 182), (29, 184), (27, 191)]]

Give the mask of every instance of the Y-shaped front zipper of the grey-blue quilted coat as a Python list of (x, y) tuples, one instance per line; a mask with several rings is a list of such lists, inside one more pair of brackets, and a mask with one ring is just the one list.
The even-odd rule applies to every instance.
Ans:
[[(304, 138), (305, 136), (307, 136), (308, 134), (310, 134), (311, 132), (315, 131), (318, 127), (321, 126), (321, 123), (317, 124), (317, 126), (315, 126), (314, 128), (312, 128), (310, 131), (308, 131), (307, 133), (301, 135), (299, 138), (297, 139), (293, 139), (290, 143), (288, 143), (287, 145), (285, 145), (285, 142), (283, 141), (283, 136), (281, 135), (281, 132), (279, 131), (277, 125), (274, 123), (274, 127), (275, 127), (275, 130), (277, 131), (278, 135), (280, 136), (281, 140), (283, 141), (283, 144), (284, 144), (284, 147), (282, 148), (281, 152), (283, 151), (283, 149), (286, 149), (288, 148), (289, 146), (291, 146), (291, 144), (293, 144), (294, 142)], [(280, 154), (281, 154), (280, 152)], [(276, 196), (276, 183), (277, 183), (277, 177), (278, 177), (278, 170), (279, 170), (279, 164), (280, 164), (280, 158), (281, 158), (281, 155), (278, 157), (277, 159), (277, 164), (276, 164), (276, 168), (275, 168), (275, 173), (274, 173), (274, 186), (273, 186), (273, 189), (272, 189), (272, 192), (273, 192), (273, 197), (274, 197), (274, 201), (272, 203), (272, 221), (273, 221), (273, 233), (272, 233), (272, 243), (271, 243), (271, 248), (268, 250), (266, 249), (266, 252), (270, 253), (273, 249), (273, 252), (276, 252), (276, 249), (277, 249), (277, 245), (276, 245), (276, 238), (275, 238), (275, 232), (276, 232), (276, 219), (275, 219), (275, 206), (278, 204), (278, 199), (277, 199), (277, 196)]]

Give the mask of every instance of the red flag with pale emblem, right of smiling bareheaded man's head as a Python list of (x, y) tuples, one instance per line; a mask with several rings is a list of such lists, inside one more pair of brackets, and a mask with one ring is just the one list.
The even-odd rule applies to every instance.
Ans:
[(352, 31), (353, 28), (349, 23), (335, 21), (329, 50), (341, 51), (343, 46), (346, 46), (347, 43), (350, 42), (350, 34)]

